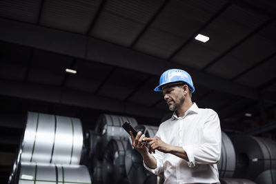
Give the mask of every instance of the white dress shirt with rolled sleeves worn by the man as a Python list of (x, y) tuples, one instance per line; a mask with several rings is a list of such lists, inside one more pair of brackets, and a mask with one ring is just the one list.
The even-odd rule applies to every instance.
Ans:
[(150, 172), (164, 172), (164, 183), (219, 183), (217, 162), (221, 154), (221, 129), (219, 117), (214, 110), (198, 108), (195, 103), (185, 113), (159, 126), (155, 137), (169, 145), (181, 146), (188, 161), (173, 154), (155, 151), (152, 156), (157, 168)]

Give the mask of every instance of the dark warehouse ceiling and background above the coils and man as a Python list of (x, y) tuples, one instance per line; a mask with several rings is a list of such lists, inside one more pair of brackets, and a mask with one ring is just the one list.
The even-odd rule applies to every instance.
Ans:
[(170, 68), (192, 76), (193, 102), (223, 132), (276, 141), (275, 17), (260, 0), (0, 1), (1, 183), (28, 112), (80, 119), (84, 132), (103, 113), (159, 126), (172, 112), (153, 89)]

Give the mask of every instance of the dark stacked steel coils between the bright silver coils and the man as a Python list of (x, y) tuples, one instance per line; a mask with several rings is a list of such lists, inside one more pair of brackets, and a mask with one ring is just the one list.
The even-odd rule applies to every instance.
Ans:
[(126, 121), (148, 137), (155, 136), (158, 130), (158, 127), (138, 125), (132, 117), (110, 114), (99, 116), (95, 132), (90, 132), (91, 138), (94, 139), (91, 139), (94, 142), (92, 146), (97, 147), (93, 149), (96, 150), (96, 160), (92, 161), (92, 176), (95, 178), (93, 181), (104, 184), (157, 183), (157, 176), (153, 176), (144, 168), (141, 155), (133, 149), (129, 134), (121, 127)]

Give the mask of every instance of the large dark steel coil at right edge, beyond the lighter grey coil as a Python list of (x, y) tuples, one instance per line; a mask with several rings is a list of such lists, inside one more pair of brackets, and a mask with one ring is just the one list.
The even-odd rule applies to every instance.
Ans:
[(271, 139), (237, 135), (231, 137), (235, 147), (234, 177), (255, 181), (265, 170), (276, 169), (276, 143)]

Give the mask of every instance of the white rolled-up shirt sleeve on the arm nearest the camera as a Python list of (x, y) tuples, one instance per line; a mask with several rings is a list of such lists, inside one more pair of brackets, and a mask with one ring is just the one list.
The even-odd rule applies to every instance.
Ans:
[(188, 156), (188, 167), (196, 164), (217, 163), (221, 154), (221, 128), (215, 111), (206, 118), (203, 129), (203, 143), (182, 146)]

